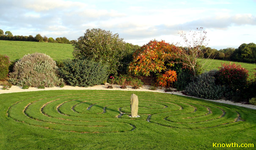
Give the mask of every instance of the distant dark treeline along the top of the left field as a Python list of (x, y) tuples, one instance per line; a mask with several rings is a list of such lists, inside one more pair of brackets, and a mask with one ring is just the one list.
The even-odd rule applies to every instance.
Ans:
[(0, 40), (6, 41), (34, 41), (34, 42), (50, 42), (50, 43), (63, 43), (63, 44), (74, 44), (75, 40), (69, 41), (66, 37), (59, 38), (47, 38), (45, 35), (42, 37), (40, 34), (37, 34), (35, 37), (33, 35), (23, 36), (23, 35), (13, 35), (10, 31), (0, 29)]

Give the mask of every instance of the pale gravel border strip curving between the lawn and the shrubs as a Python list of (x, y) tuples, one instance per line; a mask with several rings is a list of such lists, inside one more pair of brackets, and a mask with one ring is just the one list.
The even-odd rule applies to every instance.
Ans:
[[(17, 92), (29, 92), (29, 91), (40, 91), (40, 90), (124, 90), (124, 91), (146, 91), (146, 92), (158, 92), (158, 93), (168, 93), (168, 94), (175, 94), (175, 95), (183, 95), (181, 92), (165, 92), (164, 89), (157, 89), (157, 90), (149, 90), (148, 85), (144, 85), (140, 87), (140, 89), (132, 89), (131, 86), (127, 86), (127, 89), (119, 88), (119, 85), (112, 85), (113, 89), (107, 89), (105, 85), (95, 85), (93, 87), (72, 87), (72, 86), (64, 86), (64, 87), (45, 87), (45, 89), (38, 89), (37, 87), (29, 87), (28, 89), (22, 89), (22, 87), (12, 86), (9, 90), (2, 90), (2, 85), (0, 85), (0, 94), (3, 93), (17, 93)], [(184, 95), (186, 96), (186, 95)], [(189, 96), (193, 97), (193, 96)], [(205, 99), (207, 100), (207, 99)], [(235, 106), (242, 106), (250, 109), (256, 109), (256, 105), (250, 104), (242, 104), (242, 103), (234, 103), (233, 101), (226, 101), (226, 100), (207, 100), (207, 101), (215, 101), (218, 103), (223, 104), (231, 104)]]

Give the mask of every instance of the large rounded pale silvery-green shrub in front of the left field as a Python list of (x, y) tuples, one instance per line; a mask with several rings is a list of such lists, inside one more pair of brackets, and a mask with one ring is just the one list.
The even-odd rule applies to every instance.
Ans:
[(31, 87), (58, 86), (63, 79), (58, 78), (57, 69), (55, 61), (50, 56), (42, 53), (28, 54), (15, 63), (9, 82), (13, 85)]

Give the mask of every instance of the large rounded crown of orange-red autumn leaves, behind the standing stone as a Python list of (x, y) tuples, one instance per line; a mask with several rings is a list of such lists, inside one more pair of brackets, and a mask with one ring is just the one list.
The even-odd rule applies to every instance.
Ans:
[[(134, 59), (129, 65), (129, 72), (143, 76), (149, 76), (152, 72), (160, 73), (166, 70), (166, 61), (176, 59), (180, 54), (181, 49), (165, 43), (165, 41), (150, 41), (134, 53)], [(168, 62), (168, 65), (171, 66), (171, 63)]]

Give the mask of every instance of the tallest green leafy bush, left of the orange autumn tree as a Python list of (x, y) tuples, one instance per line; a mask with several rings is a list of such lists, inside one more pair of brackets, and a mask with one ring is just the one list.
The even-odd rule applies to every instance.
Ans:
[(109, 65), (110, 74), (117, 74), (121, 60), (127, 53), (125, 42), (117, 33), (95, 28), (86, 30), (84, 36), (78, 38), (73, 51), (76, 59), (93, 59)]

